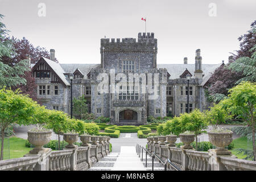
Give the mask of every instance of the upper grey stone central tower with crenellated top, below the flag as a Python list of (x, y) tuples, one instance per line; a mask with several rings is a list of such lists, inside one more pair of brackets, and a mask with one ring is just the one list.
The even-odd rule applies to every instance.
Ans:
[(101, 68), (115, 72), (144, 72), (157, 68), (158, 45), (154, 33), (135, 38), (101, 39)]

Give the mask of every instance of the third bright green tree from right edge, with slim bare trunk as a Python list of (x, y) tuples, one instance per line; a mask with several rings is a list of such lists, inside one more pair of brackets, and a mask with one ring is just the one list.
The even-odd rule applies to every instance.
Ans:
[(195, 133), (197, 150), (197, 136), (206, 133), (205, 129), (208, 127), (208, 121), (205, 119), (205, 114), (199, 109), (194, 109), (191, 113), (184, 113), (180, 117), (181, 129), (193, 131)]

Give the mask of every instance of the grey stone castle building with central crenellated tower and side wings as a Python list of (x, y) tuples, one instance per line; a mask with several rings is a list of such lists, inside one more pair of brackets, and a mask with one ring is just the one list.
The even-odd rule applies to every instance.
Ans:
[[(88, 111), (97, 117), (110, 117), (112, 123), (146, 123), (149, 116), (165, 117), (188, 109), (207, 109), (209, 103), (203, 86), (210, 73), (223, 63), (202, 64), (200, 49), (197, 49), (195, 64), (187, 64), (187, 57), (183, 64), (158, 64), (157, 41), (154, 33), (139, 33), (137, 40), (101, 39), (101, 64), (59, 64), (53, 61), (55, 51), (51, 49), (51, 60), (42, 57), (31, 64), (38, 85), (37, 96), (47, 109), (70, 113), (69, 75), (73, 74), (73, 97), (84, 95)], [(139, 84), (118, 85), (127, 82), (131, 73), (131, 79), (137, 79)], [(187, 75), (191, 75), (189, 88)], [(158, 83), (148, 85), (154, 79)], [(101, 84), (103, 81), (105, 85)], [(147, 85), (144, 91), (143, 84)], [(102, 92), (101, 88), (108, 92)], [(112, 92), (114, 88), (119, 91)]]

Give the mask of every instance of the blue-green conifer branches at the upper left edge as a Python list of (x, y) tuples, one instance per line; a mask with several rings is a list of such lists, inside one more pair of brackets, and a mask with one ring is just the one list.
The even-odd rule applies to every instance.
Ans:
[[(0, 20), (3, 15), (0, 14)], [(0, 22), (0, 87), (16, 86), (19, 84), (26, 84), (26, 79), (23, 76), (26, 71), (29, 71), (28, 60), (22, 60), (16, 63), (13, 67), (2, 62), (2, 57), (13, 57), (15, 49), (13, 41), (7, 39), (9, 30), (6, 30), (5, 24)]]

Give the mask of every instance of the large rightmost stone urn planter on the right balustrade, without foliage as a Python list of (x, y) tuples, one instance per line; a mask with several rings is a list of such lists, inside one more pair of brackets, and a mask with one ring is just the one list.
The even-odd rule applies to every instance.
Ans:
[(226, 150), (226, 146), (228, 146), (233, 141), (233, 132), (208, 132), (209, 141), (214, 146), (216, 146), (216, 153), (217, 155), (229, 155), (231, 154), (230, 151)]

